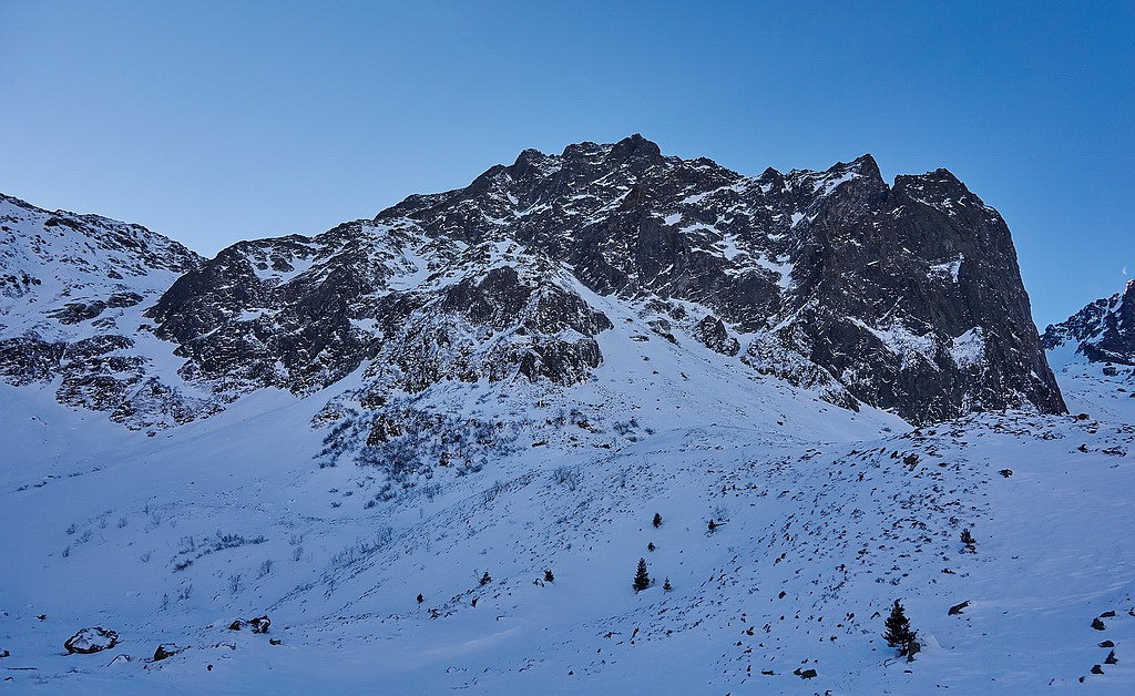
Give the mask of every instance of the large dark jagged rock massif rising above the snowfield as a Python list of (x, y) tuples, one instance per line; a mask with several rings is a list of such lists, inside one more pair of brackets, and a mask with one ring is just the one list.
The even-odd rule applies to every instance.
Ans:
[(572, 384), (611, 326), (588, 292), (848, 408), (1065, 410), (998, 212), (943, 169), (889, 186), (869, 156), (746, 177), (637, 135), (527, 150), (373, 220), (229, 248), (149, 316), (183, 375), (237, 391), (363, 362), (407, 391)]

